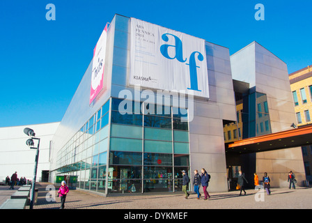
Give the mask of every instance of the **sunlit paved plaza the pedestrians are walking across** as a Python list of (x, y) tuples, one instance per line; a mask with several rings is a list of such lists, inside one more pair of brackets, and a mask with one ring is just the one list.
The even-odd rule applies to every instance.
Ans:
[[(38, 201), (33, 209), (59, 209), (61, 199), (47, 201), (46, 190), (49, 183), (36, 183)], [(9, 190), (0, 186), (0, 204), (18, 190)], [(58, 188), (56, 188), (55, 193)], [(182, 193), (175, 194), (139, 194), (103, 197), (82, 190), (70, 190), (65, 202), (65, 209), (311, 209), (312, 189), (297, 187), (296, 190), (272, 188), (268, 196), (256, 190), (246, 190), (247, 194), (238, 196), (239, 191), (211, 192), (210, 199), (196, 199), (196, 194), (184, 199)], [(209, 192), (209, 187), (208, 187)], [(29, 206), (26, 206), (29, 208)]]

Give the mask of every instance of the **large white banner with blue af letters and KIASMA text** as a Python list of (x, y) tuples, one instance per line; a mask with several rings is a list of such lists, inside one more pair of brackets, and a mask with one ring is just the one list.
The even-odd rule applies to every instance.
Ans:
[(131, 18), (128, 84), (209, 98), (205, 40)]

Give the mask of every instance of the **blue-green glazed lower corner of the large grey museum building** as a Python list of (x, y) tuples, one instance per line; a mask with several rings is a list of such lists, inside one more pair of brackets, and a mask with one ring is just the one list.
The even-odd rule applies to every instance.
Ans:
[(181, 191), (187, 120), (187, 109), (111, 98), (59, 151), (57, 174), (107, 194)]

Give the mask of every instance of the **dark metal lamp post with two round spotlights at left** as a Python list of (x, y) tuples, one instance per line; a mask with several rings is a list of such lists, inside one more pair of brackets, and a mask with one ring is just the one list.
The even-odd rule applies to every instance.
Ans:
[[(24, 133), (27, 134), (31, 139), (27, 139), (26, 145), (31, 146), (31, 149), (36, 149), (36, 158), (35, 158), (35, 168), (33, 169), (33, 182), (31, 183), (31, 196), (30, 196), (30, 202), (29, 202), (29, 208), (33, 209), (33, 200), (35, 197), (35, 186), (36, 186), (36, 177), (37, 177), (37, 169), (38, 169), (38, 159), (39, 159), (39, 146), (40, 146), (40, 138), (34, 137), (36, 134), (33, 132), (31, 128), (24, 128)], [(33, 139), (38, 140), (38, 146), (33, 147), (34, 142)]]

